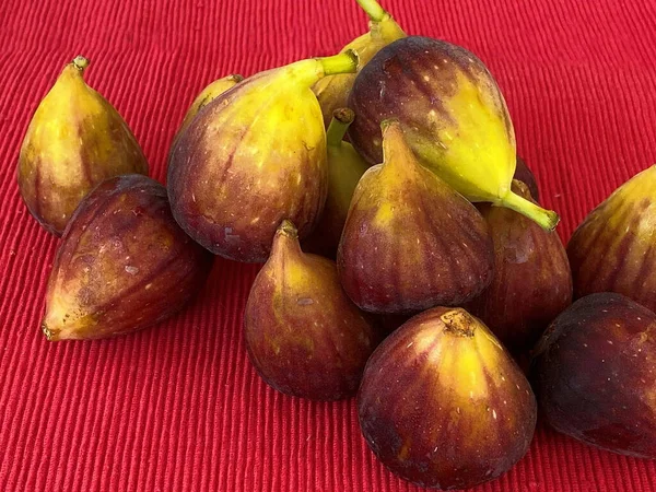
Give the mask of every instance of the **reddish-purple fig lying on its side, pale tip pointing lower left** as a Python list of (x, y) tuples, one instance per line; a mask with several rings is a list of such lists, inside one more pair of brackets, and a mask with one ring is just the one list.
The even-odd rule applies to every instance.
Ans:
[(142, 175), (99, 184), (67, 225), (46, 291), (48, 340), (115, 337), (180, 311), (213, 256), (176, 224), (166, 189)]

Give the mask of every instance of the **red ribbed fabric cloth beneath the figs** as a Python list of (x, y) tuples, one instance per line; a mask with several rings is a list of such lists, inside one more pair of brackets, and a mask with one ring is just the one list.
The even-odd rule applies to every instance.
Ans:
[[(656, 161), (654, 0), (386, 0), (408, 33), (471, 49), (499, 81), (520, 155), (567, 238)], [(0, 490), (415, 491), (387, 472), (354, 402), (267, 387), (246, 359), (254, 266), (218, 260), (183, 314), (140, 333), (49, 343), (39, 331), (57, 239), (22, 203), (19, 148), (75, 55), (165, 176), (174, 131), (213, 79), (337, 51), (364, 32), (353, 0), (3, 0), (0, 7)], [(626, 382), (632, 384), (632, 382)], [(656, 466), (540, 426), (481, 491), (656, 490)]]

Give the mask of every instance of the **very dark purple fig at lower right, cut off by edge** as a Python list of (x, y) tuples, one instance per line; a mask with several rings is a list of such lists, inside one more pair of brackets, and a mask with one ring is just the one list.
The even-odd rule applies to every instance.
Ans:
[(656, 458), (656, 315), (617, 293), (576, 301), (534, 360), (542, 414), (586, 444)]

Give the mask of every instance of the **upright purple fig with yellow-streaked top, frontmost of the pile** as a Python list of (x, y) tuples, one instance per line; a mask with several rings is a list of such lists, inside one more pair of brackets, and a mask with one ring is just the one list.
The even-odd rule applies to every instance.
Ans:
[(411, 318), (374, 351), (358, 393), (366, 443), (421, 487), (465, 489), (528, 450), (536, 398), (496, 338), (465, 309)]

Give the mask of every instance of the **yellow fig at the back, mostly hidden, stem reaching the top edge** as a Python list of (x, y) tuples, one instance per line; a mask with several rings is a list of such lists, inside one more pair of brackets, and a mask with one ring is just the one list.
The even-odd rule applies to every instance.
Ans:
[[(380, 48), (405, 37), (406, 33), (376, 0), (356, 0), (356, 2), (370, 17), (370, 31), (344, 46), (342, 51), (352, 49), (358, 54), (358, 70), (360, 70)], [(354, 81), (355, 73), (343, 73), (325, 77), (313, 86), (324, 113), (326, 128), (330, 125), (335, 110), (347, 106)]]

